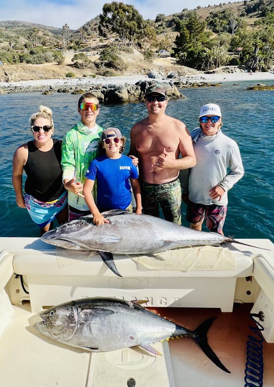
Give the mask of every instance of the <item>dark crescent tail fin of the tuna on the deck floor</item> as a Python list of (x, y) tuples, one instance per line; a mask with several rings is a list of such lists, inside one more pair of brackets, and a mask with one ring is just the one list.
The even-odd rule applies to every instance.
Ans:
[(221, 368), (225, 372), (230, 373), (230, 371), (223, 365), (208, 343), (207, 333), (215, 319), (216, 317), (211, 317), (210, 319), (205, 320), (195, 329), (193, 336), (191, 337), (196, 341), (203, 353), (207, 355), (207, 357), (210, 358), (210, 360), (216, 364), (217, 367)]

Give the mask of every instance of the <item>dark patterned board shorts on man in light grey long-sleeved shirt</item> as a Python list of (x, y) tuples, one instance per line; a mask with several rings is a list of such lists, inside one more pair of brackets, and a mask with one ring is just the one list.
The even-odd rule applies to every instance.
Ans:
[(223, 233), (227, 206), (216, 204), (205, 205), (189, 201), (187, 204), (186, 218), (189, 223), (199, 223), (205, 217), (205, 224), (214, 233)]

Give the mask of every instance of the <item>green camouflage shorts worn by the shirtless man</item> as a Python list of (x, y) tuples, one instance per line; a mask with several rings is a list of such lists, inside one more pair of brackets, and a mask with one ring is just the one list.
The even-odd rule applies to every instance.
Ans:
[(143, 213), (159, 217), (160, 206), (165, 220), (181, 224), (182, 190), (179, 178), (164, 184), (139, 181)]

